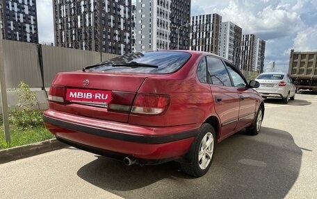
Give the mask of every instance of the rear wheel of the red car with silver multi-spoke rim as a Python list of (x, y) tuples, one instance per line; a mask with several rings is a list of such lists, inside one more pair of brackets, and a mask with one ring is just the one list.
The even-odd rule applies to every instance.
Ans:
[(188, 153), (191, 159), (190, 162), (181, 163), (184, 173), (195, 177), (205, 175), (211, 166), (215, 145), (216, 132), (213, 126), (209, 123), (202, 124)]

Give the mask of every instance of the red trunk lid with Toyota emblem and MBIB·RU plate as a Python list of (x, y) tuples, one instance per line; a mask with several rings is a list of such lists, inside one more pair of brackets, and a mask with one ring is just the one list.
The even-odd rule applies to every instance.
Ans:
[(49, 107), (70, 114), (127, 123), (136, 93), (149, 76), (155, 74), (58, 73), (49, 91)]

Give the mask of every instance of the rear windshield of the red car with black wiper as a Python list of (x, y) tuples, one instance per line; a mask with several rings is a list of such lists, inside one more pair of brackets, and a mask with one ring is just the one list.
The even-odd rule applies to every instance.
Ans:
[(181, 68), (189, 58), (190, 53), (177, 51), (130, 53), (107, 60), (104, 64), (91, 67), (88, 71), (172, 73)]

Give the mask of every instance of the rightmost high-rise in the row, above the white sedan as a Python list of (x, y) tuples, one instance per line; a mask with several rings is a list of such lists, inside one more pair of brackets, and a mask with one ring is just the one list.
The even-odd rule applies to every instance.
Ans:
[(241, 48), (241, 65), (243, 71), (263, 71), (266, 42), (255, 35), (243, 35)]

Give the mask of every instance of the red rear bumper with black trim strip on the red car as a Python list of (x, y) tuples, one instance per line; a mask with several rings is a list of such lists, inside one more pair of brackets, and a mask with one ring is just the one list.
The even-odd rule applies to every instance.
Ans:
[(131, 126), (54, 110), (44, 112), (43, 119), (47, 129), (70, 146), (99, 155), (116, 154), (143, 160), (180, 158), (188, 152), (199, 128), (197, 125), (168, 128)]

